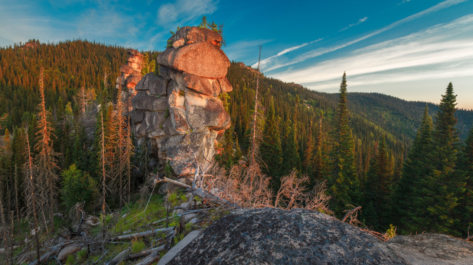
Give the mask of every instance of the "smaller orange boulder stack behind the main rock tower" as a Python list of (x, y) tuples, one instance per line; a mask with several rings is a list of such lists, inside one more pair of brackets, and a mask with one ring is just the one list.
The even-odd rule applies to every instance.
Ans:
[(143, 55), (133, 49), (127, 50), (126, 53), (128, 54), (127, 62), (120, 67), (122, 75), (117, 78), (115, 87), (121, 91), (121, 100), (125, 103), (123, 111), (128, 113), (133, 109), (131, 99), (136, 95), (135, 86), (141, 80)]

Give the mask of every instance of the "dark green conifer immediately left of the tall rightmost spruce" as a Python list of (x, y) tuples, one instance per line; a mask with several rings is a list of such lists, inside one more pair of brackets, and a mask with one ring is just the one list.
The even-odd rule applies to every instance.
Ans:
[(429, 108), (426, 105), (422, 123), (404, 162), (402, 177), (394, 190), (392, 200), (394, 214), (391, 223), (400, 224), (400, 231), (403, 233), (422, 232), (424, 231), (422, 229), (425, 228), (422, 221), (415, 219), (415, 217), (426, 211), (426, 207), (420, 203), (420, 199), (433, 195), (429, 186), (425, 186), (423, 183), (423, 178), (432, 171), (430, 163), (432, 126), (432, 118), (429, 116)]

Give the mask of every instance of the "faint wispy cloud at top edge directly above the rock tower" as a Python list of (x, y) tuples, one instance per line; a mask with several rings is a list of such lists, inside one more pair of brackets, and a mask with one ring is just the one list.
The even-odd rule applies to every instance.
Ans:
[(189, 21), (217, 10), (218, 0), (176, 0), (158, 8), (158, 25), (184, 25)]

